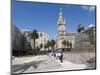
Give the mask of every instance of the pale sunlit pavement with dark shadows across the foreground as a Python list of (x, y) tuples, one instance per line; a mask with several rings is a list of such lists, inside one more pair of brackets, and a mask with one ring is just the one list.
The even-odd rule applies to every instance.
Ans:
[(86, 64), (76, 64), (64, 58), (60, 60), (47, 55), (15, 58), (12, 62), (13, 73), (46, 72), (85, 69)]

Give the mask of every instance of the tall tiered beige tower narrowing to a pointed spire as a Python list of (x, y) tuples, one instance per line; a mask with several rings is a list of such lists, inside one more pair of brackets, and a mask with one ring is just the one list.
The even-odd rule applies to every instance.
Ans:
[(62, 41), (66, 39), (66, 22), (64, 19), (64, 15), (62, 12), (62, 8), (60, 8), (58, 21), (57, 21), (57, 48), (62, 48)]

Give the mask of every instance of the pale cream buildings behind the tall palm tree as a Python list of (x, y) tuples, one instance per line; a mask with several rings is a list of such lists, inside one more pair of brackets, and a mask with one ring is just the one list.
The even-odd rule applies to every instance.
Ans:
[[(21, 30), (21, 32), (24, 35), (24, 37), (27, 39), (26, 47), (29, 47), (29, 44), (30, 44), (31, 48), (33, 49), (34, 48), (34, 41), (30, 37), (31, 31), (24, 29), (24, 30)], [(46, 34), (45, 32), (38, 32), (38, 34), (39, 34), (39, 37), (35, 41), (35, 44), (36, 44), (35, 47), (40, 48), (40, 44), (42, 44), (43, 45), (42, 50), (44, 50), (44, 46), (47, 43), (47, 41), (49, 40), (49, 35)]]

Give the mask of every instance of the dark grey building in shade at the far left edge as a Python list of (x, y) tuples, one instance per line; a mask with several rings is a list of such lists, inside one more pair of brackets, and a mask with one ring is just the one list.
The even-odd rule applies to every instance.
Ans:
[(23, 49), (23, 35), (20, 30), (11, 25), (11, 46), (12, 46), (12, 54), (15, 56), (20, 55), (21, 53), (25, 52), (26, 50)]

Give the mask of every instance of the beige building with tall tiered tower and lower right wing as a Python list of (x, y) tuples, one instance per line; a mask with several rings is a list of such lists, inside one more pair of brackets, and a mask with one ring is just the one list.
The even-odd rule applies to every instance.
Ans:
[(64, 40), (72, 43), (72, 48), (74, 48), (75, 47), (75, 37), (77, 33), (66, 32), (66, 20), (64, 19), (62, 9), (60, 9), (57, 26), (58, 26), (57, 39), (56, 39), (57, 49), (64, 48), (64, 45), (62, 44)]

